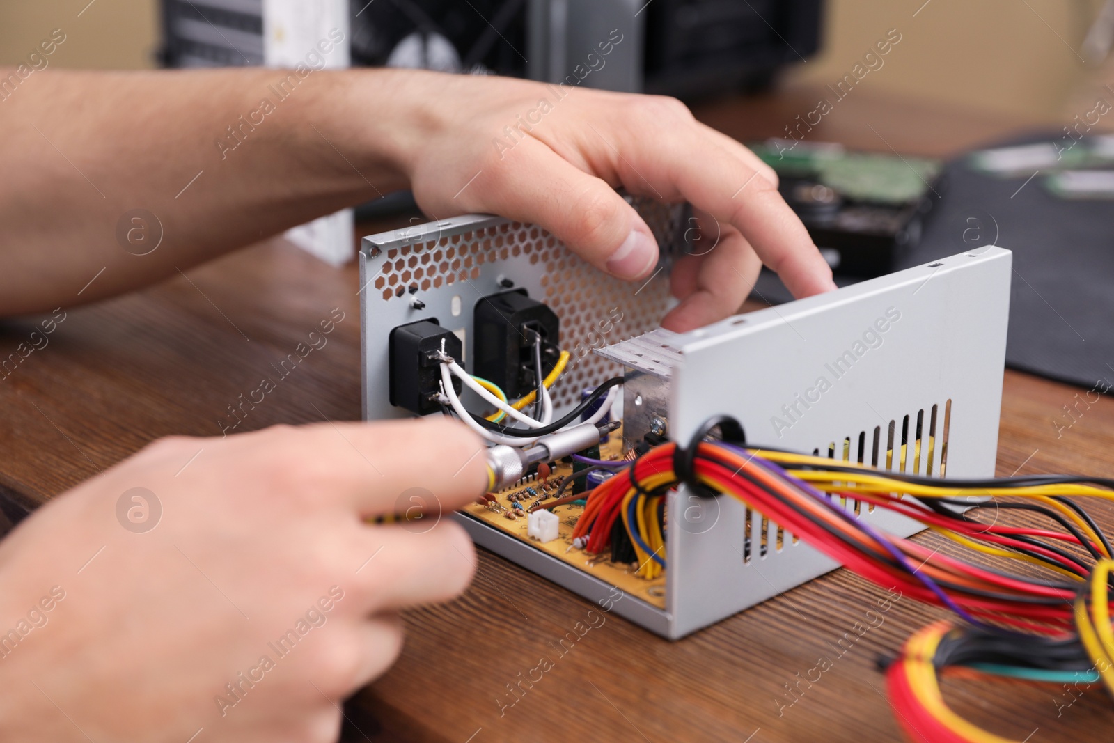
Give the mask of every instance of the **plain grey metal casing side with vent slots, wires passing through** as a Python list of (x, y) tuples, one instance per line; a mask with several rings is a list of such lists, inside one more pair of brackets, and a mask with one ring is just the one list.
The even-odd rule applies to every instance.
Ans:
[[(691, 333), (654, 331), (600, 353), (643, 379), (665, 365), (653, 363), (657, 356), (644, 362), (646, 349), (680, 359), (668, 383), (668, 436), (676, 441), (727, 413), (752, 447), (991, 477), (1010, 273), (1009, 251), (979, 248)], [(627, 392), (627, 405), (632, 393), (637, 389)], [(851, 500), (847, 508), (901, 536), (922, 528)], [(838, 567), (730, 498), (709, 501), (682, 489), (671, 497), (670, 525), (670, 637)]]

